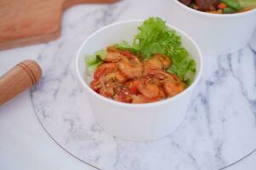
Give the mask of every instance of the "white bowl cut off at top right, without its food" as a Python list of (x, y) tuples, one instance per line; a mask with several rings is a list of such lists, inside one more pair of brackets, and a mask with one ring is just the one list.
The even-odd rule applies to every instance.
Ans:
[(177, 0), (170, 5), (168, 22), (187, 32), (202, 54), (229, 54), (244, 48), (256, 27), (256, 8), (240, 14), (209, 14)]

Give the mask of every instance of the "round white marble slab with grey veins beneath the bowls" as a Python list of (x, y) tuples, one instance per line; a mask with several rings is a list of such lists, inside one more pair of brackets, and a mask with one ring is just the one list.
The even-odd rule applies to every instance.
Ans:
[[(17, 56), (38, 59), (44, 71), (43, 80), (32, 90), (32, 100), (26, 94), (22, 103), (32, 102), (33, 110), (51, 136), (84, 161), (119, 170), (225, 167), (256, 147), (256, 59), (252, 48), (228, 56), (207, 56), (206, 71), (195, 90), (186, 120), (177, 132), (156, 142), (124, 142), (102, 132), (93, 122), (83, 88), (76, 82), (74, 55), (91, 31), (113, 21), (149, 15), (168, 20), (166, 3), (167, 0), (123, 1), (71, 8), (64, 16), (60, 39), (3, 51), (1, 56), (16, 58), (3, 58), (6, 60), (2, 60), (0, 69), (6, 69), (2, 63), (14, 65), (21, 59)], [(142, 4), (147, 5), (141, 8)], [(9, 103), (3, 111), (11, 111), (12, 105), (15, 104)]]

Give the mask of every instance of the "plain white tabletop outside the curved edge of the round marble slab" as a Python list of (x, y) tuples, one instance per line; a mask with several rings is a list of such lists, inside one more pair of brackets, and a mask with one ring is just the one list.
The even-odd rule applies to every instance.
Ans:
[[(20, 53), (25, 54), (25, 53)], [(2, 56), (0, 74), (15, 64), (17, 54)], [(1, 65), (2, 66), (2, 65)], [(39, 125), (26, 92), (1, 107), (0, 169), (3, 170), (96, 170), (63, 151)], [(256, 152), (225, 170), (255, 170)], [(170, 169), (172, 170), (172, 169)]]

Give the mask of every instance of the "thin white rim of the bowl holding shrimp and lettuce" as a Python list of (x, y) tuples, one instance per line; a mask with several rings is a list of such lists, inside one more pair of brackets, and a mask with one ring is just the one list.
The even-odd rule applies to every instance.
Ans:
[[(143, 22), (144, 20), (124, 20), (124, 21), (119, 21), (119, 22), (114, 22), (113, 24), (110, 24), (108, 26), (103, 26), (102, 28), (94, 31), (92, 34), (90, 34), (89, 37), (87, 37), (84, 42), (82, 43), (82, 45), (80, 46), (79, 48), (79, 51), (77, 52), (77, 56), (76, 56), (76, 61), (75, 61), (75, 67), (76, 67), (76, 73), (77, 73), (77, 76), (79, 77), (79, 82), (82, 83), (83, 87), (86, 88), (86, 90), (94, 95), (97, 99), (101, 99), (103, 100), (104, 102), (108, 103), (108, 104), (111, 104), (111, 105), (119, 105), (119, 106), (125, 106), (125, 107), (129, 107), (129, 108), (143, 108), (143, 107), (153, 107), (153, 106), (157, 106), (157, 105), (166, 105), (166, 103), (169, 103), (169, 102), (172, 102), (173, 100), (177, 100), (181, 97), (183, 97), (183, 95), (186, 95), (189, 93), (189, 91), (193, 90), (193, 88), (195, 88), (195, 85), (199, 82), (199, 80), (201, 79), (201, 75), (202, 75), (202, 70), (203, 70), (203, 59), (202, 59), (202, 54), (201, 54), (201, 50), (200, 48), (198, 47), (197, 43), (191, 38), (189, 37), (188, 34), (186, 34), (185, 32), (179, 30), (177, 27), (175, 26), (171, 26), (169, 24), (166, 24), (169, 28), (175, 30), (175, 31), (178, 31), (180, 34), (182, 34), (185, 38), (188, 38), (189, 41), (192, 42), (192, 44), (194, 44), (195, 46), (195, 49), (197, 50), (199, 56), (199, 64), (200, 64), (200, 67), (199, 67), (199, 72), (197, 74), (197, 76), (195, 77), (195, 80), (194, 82), (191, 83), (191, 85), (189, 86), (189, 88), (186, 88), (183, 92), (181, 92), (180, 94), (177, 94), (175, 96), (173, 96), (172, 98), (168, 98), (168, 99), (163, 99), (163, 100), (160, 100), (160, 101), (155, 101), (155, 102), (151, 102), (151, 103), (146, 103), (146, 104), (128, 104), (128, 103), (123, 103), (123, 102), (119, 102), (119, 101), (115, 101), (113, 99), (108, 99), (104, 96), (102, 96), (101, 94), (97, 94), (94, 90), (92, 90), (90, 88), (90, 86), (84, 81), (84, 78), (83, 76), (80, 74), (80, 71), (79, 71), (79, 59), (80, 59), (80, 56), (83, 56), (81, 55), (81, 52), (82, 52), (82, 49), (84, 48), (84, 44), (86, 42), (88, 42), (90, 40), (90, 38), (94, 37), (97, 33), (103, 31), (103, 30), (106, 30), (108, 29), (109, 27), (112, 27), (112, 26), (117, 26), (117, 25), (120, 25), (120, 24), (126, 24), (126, 23), (131, 23), (131, 22)], [(197, 63), (198, 64), (198, 63)], [(85, 65), (86, 66), (86, 65)]]

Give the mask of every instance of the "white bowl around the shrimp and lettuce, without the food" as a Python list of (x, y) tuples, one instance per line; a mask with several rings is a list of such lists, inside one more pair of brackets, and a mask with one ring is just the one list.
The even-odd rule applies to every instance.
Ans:
[(89, 81), (84, 80), (87, 74), (84, 54), (95, 54), (97, 50), (114, 43), (131, 41), (137, 34), (137, 26), (142, 23), (143, 20), (129, 20), (103, 27), (84, 41), (76, 59), (79, 82), (88, 94), (96, 122), (113, 136), (132, 141), (159, 139), (177, 128), (186, 114), (190, 96), (201, 77), (203, 65), (201, 51), (196, 43), (183, 31), (170, 26), (182, 37), (183, 47), (187, 48), (196, 61), (197, 73), (189, 88), (173, 98), (149, 104), (125, 104), (96, 94), (89, 87)]

